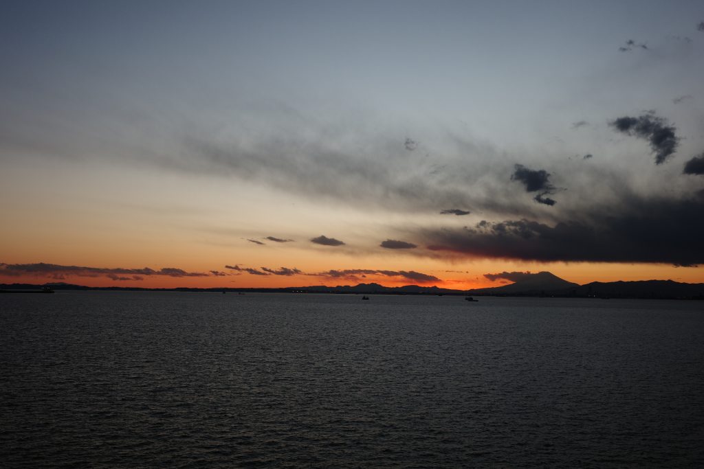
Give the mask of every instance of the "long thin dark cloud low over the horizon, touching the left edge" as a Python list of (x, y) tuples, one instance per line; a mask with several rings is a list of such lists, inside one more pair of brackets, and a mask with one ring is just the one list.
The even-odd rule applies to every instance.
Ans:
[[(175, 267), (164, 267), (163, 269), (105, 269), (102, 267), (87, 267), (87, 266), (64, 266), (59, 264), (3, 264), (0, 266), (0, 275), (20, 276), (20, 275), (75, 275), (81, 277), (97, 277), (108, 276), (113, 280), (137, 280), (135, 276), (169, 276), (169, 277), (208, 277), (213, 274), (203, 272), (187, 272), (183, 269)], [(111, 276), (128, 276), (132, 278), (113, 278)]]

